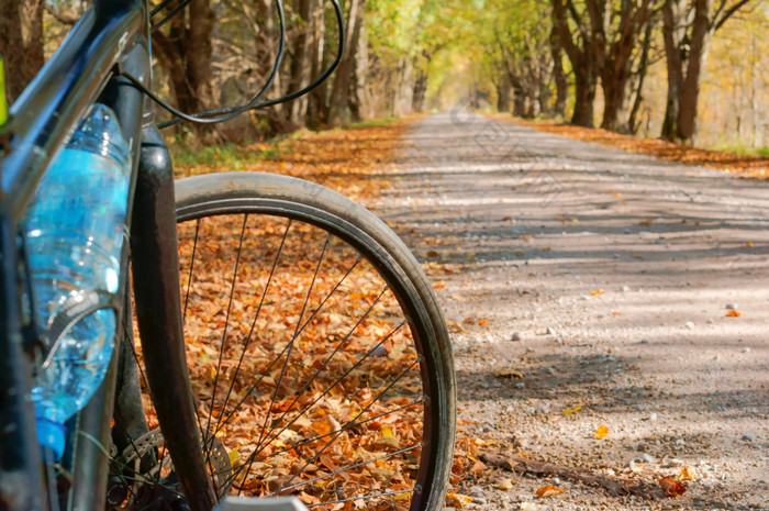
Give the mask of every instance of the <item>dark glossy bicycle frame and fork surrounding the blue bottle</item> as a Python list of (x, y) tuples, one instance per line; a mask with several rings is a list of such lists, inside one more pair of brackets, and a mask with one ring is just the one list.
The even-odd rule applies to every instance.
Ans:
[[(130, 251), (133, 270), (141, 275), (135, 279), (136, 316), (153, 396), (166, 403), (159, 407), (165, 410), (174, 403), (179, 410), (176, 420), (194, 418), (191, 401), (175, 401), (182, 395), (177, 389), (188, 376), (179, 307), (172, 167), (157, 131), (143, 123), (147, 111), (144, 95), (120, 76), (126, 71), (149, 86), (148, 34), (146, 0), (94, 0), (11, 107), (0, 132), (0, 510), (43, 509), (47, 495), (40, 477), (40, 447), (29, 402), (30, 359), (36, 340), (21, 300), (30, 289), (24, 285), (23, 243), (16, 225), (49, 163), (94, 101), (114, 110), (133, 156), (126, 215), (131, 244), (130, 248), (123, 244), (121, 275), (127, 274)], [(7, 141), (4, 145), (2, 141)], [(126, 295), (129, 279), (122, 281), (120, 298)], [(123, 306), (119, 303), (116, 310), (119, 325)], [(75, 440), (73, 453), (77, 463), (71, 509), (103, 509), (105, 502), (109, 453), (104, 446), (110, 445), (118, 380), (118, 356), (112, 358), (101, 388), (77, 415), (83, 434)], [(166, 375), (163, 385), (158, 385), (158, 375)], [(116, 407), (120, 409), (121, 403)], [(172, 427), (175, 418), (159, 415), (159, 420), (164, 427)], [(185, 452), (183, 445), (190, 442), (199, 438), (166, 440), (171, 452), (172, 444), (177, 452)], [(185, 492), (196, 495), (188, 501), (191, 509), (210, 510), (212, 491), (192, 491), (205, 488), (207, 482), (196, 481), (180, 468), (189, 465), (201, 474), (203, 459), (198, 457), (182, 459), (177, 470)]]

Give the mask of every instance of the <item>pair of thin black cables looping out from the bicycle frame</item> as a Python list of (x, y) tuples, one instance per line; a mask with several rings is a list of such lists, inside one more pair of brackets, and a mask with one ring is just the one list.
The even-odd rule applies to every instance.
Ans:
[(339, 5), (338, 0), (331, 0), (332, 4), (334, 5), (334, 11), (336, 14), (336, 22), (339, 27), (338, 33), (338, 48), (336, 53), (336, 57), (334, 58), (334, 62), (326, 68), (315, 81), (310, 84), (309, 86), (304, 87), (303, 89), (300, 89), (296, 92), (292, 92), (290, 95), (283, 96), (282, 98), (278, 99), (272, 99), (268, 101), (263, 101), (259, 102), (261, 97), (265, 95), (265, 92), (271, 87), (275, 77), (279, 70), (280, 63), (282, 60), (282, 54), (283, 54), (283, 46), (285, 46), (285, 41), (286, 41), (286, 23), (285, 23), (285, 14), (283, 14), (283, 5), (281, 0), (276, 0), (276, 3), (278, 5), (278, 16), (280, 19), (280, 45), (278, 48), (278, 56), (275, 62), (275, 66), (272, 67), (272, 71), (267, 79), (267, 82), (265, 86), (261, 88), (258, 95), (256, 95), (250, 101), (248, 101), (245, 104), (242, 104), (239, 107), (229, 107), (224, 109), (219, 109), (219, 110), (209, 110), (204, 112), (199, 112), (194, 114), (187, 114), (183, 113), (176, 108), (171, 107), (168, 104), (166, 101), (163, 99), (158, 98), (155, 93), (153, 93), (151, 90), (148, 90), (138, 79), (135, 77), (129, 75), (129, 74), (123, 74), (123, 76), (129, 79), (131, 82), (136, 86), (142, 92), (146, 93), (153, 101), (155, 101), (157, 104), (159, 104), (161, 108), (168, 110), (172, 114), (177, 115), (176, 119), (172, 119), (170, 121), (166, 121), (164, 123), (158, 124), (158, 127), (168, 127), (175, 124), (178, 124), (182, 121), (189, 121), (189, 122), (194, 122), (199, 124), (214, 124), (219, 122), (224, 122), (229, 121), (230, 119), (234, 119), (235, 116), (239, 115), (243, 112), (246, 112), (248, 110), (255, 110), (255, 109), (261, 109), (261, 108), (267, 108), (271, 107), (274, 104), (279, 104), (279, 103), (285, 103), (287, 101), (291, 101), (293, 99), (299, 98), (300, 96), (303, 96), (311, 90), (315, 89), (317, 86), (320, 86), (328, 76), (334, 73), (334, 70), (338, 67), (339, 63), (342, 62), (342, 54), (344, 52), (344, 16), (342, 13), (342, 7)]

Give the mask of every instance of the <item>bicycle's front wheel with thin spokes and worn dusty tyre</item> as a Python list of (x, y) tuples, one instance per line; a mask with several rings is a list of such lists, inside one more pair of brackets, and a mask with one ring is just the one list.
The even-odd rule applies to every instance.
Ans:
[(176, 195), (193, 426), (219, 497), (443, 508), (450, 345), (394, 233), (283, 176), (199, 176)]

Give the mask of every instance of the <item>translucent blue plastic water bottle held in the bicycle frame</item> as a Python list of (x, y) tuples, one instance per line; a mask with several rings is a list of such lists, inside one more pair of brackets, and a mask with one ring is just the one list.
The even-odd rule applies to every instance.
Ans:
[[(114, 311), (90, 303), (118, 291), (130, 159), (114, 112), (92, 105), (46, 170), (24, 219), (35, 309), (54, 346), (35, 375), (32, 401), (38, 441), (56, 459), (65, 421), (91, 398), (112, 356)], [(63, 321), (78, 308), (82, 319)]]

